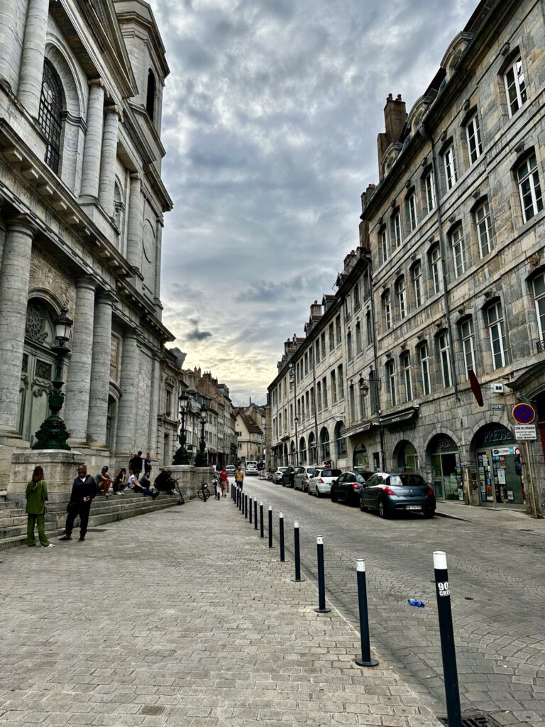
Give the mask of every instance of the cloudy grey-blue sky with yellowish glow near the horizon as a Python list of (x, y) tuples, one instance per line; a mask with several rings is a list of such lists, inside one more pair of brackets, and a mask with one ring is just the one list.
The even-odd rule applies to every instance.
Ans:
[(283, 342), (334, 292), (410, 110), (477, 0), (150, 0), (166, 79), (164, 323), (187, 366), (265, 403)]

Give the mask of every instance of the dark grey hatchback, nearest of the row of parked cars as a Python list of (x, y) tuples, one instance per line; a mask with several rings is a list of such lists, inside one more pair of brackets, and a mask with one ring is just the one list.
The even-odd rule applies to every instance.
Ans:
[(360, 510), (376, 510), (381, 518), (395, 511), (435, 515), (435, 494), (421, 475), (411, 472), (376, 472), (360, 491)]

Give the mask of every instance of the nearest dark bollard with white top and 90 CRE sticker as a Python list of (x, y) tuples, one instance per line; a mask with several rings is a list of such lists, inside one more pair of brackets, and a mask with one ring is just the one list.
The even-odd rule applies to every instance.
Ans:
[(458, 670), (456, 669), (456, 649), (452, 627), (451, 590), (448, 585), (447, 554), (436, 550), (433, 554), (435, 570), (435, 595), (443, 655), (443, 675), (445, 677), (445, 698), (447, 703), (448, 727), (461, 727), (460, 690)]

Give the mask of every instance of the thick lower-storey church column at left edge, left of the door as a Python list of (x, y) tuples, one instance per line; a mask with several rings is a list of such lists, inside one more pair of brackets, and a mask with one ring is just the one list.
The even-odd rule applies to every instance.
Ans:
[(0, 268), (0, 433), (15, 435), (25, 343), (28, 280), (36, 228), (23, 215), (7, 220)]

